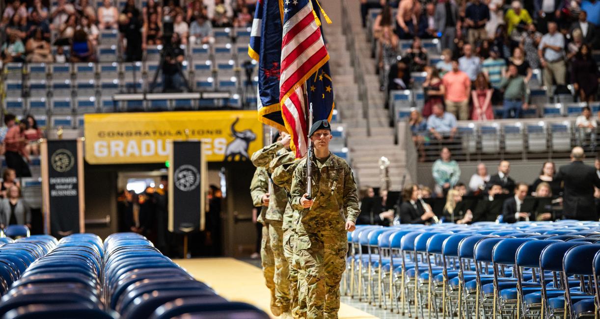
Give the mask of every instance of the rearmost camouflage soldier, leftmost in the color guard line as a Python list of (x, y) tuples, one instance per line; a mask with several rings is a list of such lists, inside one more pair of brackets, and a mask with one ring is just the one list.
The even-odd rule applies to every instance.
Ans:
[(256, 218), (257, 222), (263, 224), (262, 239), (260, 240), (260, 260), (265, 276), (266, 287), (271, 291), (271, 312), (281, 314), (281, 309), (276, 304), (275, 298), (275, 258), (269, 243), (269, 224), (265, 222), (266, 209), (269, 206), (269, 173), (266, 168), (256, 168), (252, 182), (250, 183), (250, 196), (252, 204), (260, 209), (260, 215)]

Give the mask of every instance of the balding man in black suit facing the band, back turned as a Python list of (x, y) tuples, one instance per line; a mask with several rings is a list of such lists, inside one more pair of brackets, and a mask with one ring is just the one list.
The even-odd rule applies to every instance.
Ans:
[(583, 148), (571, 151), (571, 164), (559, 168), (556, 179), (563, 182), (563, 216), (566, 219), (597, 221), (594, 203), (594, 187), (600, 188), (596, 168), (583, 164)]

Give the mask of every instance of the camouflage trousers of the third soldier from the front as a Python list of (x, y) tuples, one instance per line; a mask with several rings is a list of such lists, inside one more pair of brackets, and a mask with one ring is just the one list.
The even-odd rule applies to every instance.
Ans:
[(283, 222), (269, 219), (269, 242), (275, 258), (275, 296), (282, 312), (290, 311), (289, 265), (283, 254)]

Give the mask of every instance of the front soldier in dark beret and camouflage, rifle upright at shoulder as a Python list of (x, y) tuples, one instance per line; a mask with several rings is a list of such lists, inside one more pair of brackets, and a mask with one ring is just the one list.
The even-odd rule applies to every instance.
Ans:
[(311, 199), (306, 193), (305, 160), (296, 167), (291, 189), (292, 208), (301, 211), (296, 251), (306, 272), (307, 318), (337, 318), (348, 250), (346, 232), (356, 228), (358, 194), (350, 166), (329, 152), (329, 123), (317, 121), (309, 137), (314, 144)]

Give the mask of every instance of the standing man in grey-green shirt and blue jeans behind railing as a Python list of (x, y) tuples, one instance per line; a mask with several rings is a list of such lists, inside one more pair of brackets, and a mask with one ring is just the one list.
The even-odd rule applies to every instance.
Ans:
[[(520, 76), (517, 67), (513, 64), (508, 66), (506, 76), (500, 82), (500, 88), (504, 91), (503, 116), (502, 118), (520, 118), (521, 112), (527, 110), (529, 105), (529, 91), (525, 78)], [(514, 115), (511, 115), (514, 112)]]

